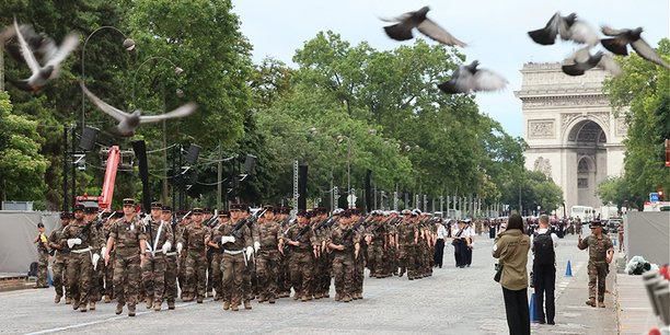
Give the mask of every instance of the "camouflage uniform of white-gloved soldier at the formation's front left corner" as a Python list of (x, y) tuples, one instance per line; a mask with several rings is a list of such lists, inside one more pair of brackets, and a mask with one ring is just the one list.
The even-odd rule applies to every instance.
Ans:
[(69, 291), (74, 299), (72, 308), (77, 310), (81, 303), (82, 312), (86, 311), (86, 303), (92, 301), (90, 297), (91, 277), (93, 275), (91, 250), (97, 250), (99, 247), (95, 229), (90, 229), (86, 234), (79, 236), (86, 224), (88, 223), (83, 219), (72, 220), (72, 222), (63, 229), (62, 235), (60, 236), (60, 245), (63, 249), (69, 247), (69, 239), (81, 239), (80, 244), (72, 245), (70, 249), (70, 257), (67, 265), (67, 282)]

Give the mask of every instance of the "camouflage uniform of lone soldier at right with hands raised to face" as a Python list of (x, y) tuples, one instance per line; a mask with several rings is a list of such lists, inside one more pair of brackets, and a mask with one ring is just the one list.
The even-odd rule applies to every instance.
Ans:
[[(584, 247), (581, 247), (584, 246)], [(605, 257), (608, 251), (613, 251), (612, 240), (602, 233), (600, 238), (591, 234), (581, 241), (580, 250), (589, 249), (589, 299), (596, 298), (596, 282), (598, 282), (598, 302), (604, 301), (605, 277), (610, 272), (610, 265)]]

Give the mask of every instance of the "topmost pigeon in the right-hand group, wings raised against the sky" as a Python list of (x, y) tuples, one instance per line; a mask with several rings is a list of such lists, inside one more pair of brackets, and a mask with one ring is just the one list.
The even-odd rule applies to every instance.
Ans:
[(543, 28), (530, 31), (528, 35), (541, 45), (553, 45), (556, 36), (561, 36), (563, 41), (574, 41), (590, 46), (600, 43), (598, 32), (581, 20), (577, 20), (576, 13), (562, 16), (561, 12), (556, 12)]

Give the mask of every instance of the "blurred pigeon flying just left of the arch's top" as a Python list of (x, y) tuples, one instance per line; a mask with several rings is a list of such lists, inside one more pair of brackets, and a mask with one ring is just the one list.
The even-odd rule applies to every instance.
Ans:
[(478, 66), (480, 61), (477, 60), (467, 66), (459, 66), (451, 79), (438, 84), (438, 88), (447, 94), (457, 94), (498, 91), (507, 86), (507, 79), (493, 71), (477, 69)]

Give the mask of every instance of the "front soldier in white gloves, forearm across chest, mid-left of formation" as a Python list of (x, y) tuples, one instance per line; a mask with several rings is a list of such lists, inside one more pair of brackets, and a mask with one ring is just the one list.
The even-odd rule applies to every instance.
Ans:
[[(243, 276), (253, 256), (253, 240), (246, 224), (249, 207), (236, 204), (230, 207), (231, 220), (221, 224), (216, 236), (221, 241), (223, 256), (223, 310), (238, 311), (244, 294)], [(244, 297), (244, 309), (251, 310), (251, 301)]]

